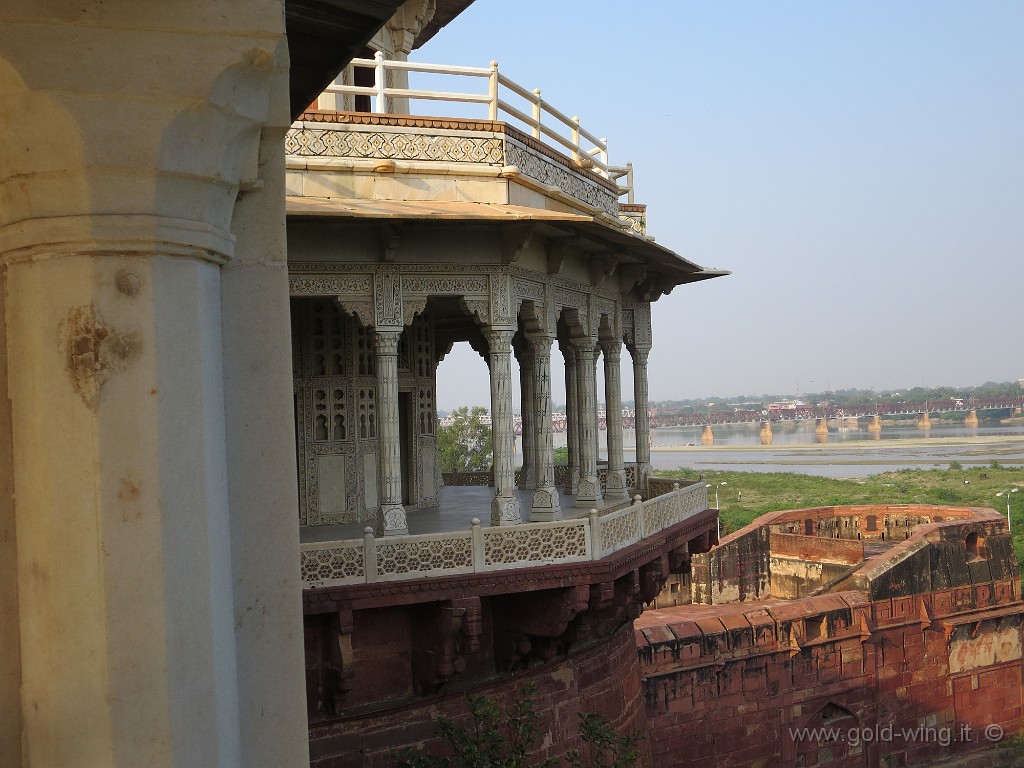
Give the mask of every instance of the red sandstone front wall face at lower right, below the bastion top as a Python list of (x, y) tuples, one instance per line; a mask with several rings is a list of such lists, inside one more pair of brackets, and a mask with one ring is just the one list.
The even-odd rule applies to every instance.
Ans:
[[(1013, 582), (850, 605), (808, 640), (794, 611), (820, 600), (780, 606), (781, 618), (751, 606), (715, 636), (638, 633), (653, 766), (928, 765), (990, 748), (986, 727), (1024, 725)], [(842, 736), (791, 730), (803, 727)]]

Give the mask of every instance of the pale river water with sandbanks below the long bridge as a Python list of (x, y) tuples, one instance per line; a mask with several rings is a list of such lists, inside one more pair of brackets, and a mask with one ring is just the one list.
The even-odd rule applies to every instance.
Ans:
[[(700, 444), (699, 427), (665, 427), (651, 430), (651, 465), (655, 469), (686, 467), (700, 470), (745, 472), (799, 472), (822, 477), (866, 477), (898, 469), (945, 469), (950, 462), (965, 467), (988, 466), (996, 461), (1007, 467), (1024, 466), (1024, 425), (980, 426), (934, 424), (931, 429), (884, 424), (881, 435), (855, 428), (829, 427), (820, 442), (813, 421), (772, 424), (771, 445), (762, 445), (759, 424), (716, 426), (715, 444)], [(605, 433), (601, 432), (604, 457)], [(627, 449), (635, 445), (626, 430)], [(555, 435), (564, 445), (565, 435)], [(626, 461), (633, 452), (627, 450)]]

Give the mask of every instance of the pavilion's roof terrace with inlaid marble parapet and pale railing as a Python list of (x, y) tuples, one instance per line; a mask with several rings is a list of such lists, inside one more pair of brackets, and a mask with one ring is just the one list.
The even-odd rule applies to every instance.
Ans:
[[(354, 59), (347, 72), (342, 79), (348, 83), (371, 80), (359, 78), (360, 72), (372, 74), (372, 85), (329, 87), (326, 93), (349, 109), (306, 112), (288, 132), (292, 201), (439, 203), (441, 210), (445, 204), (493, 204), (522, 218), (539, 210), (589, 217), (647, 240), (645, 208), (633, 200), (632, 164), (610, 164), (607, 139), (555, 109), (540, 91), (507, 78), (497, 63), (429, 65), (389, 60), (378, 52), (373, 59)], [(410, 74), (458, 78), (461, 90), (387, 85), (408, 83)], [(465, 85), (479, 81), (486, 86), (475, 92)], [(481, 114), (408, 114), (422, 100), (447, 102), (453, 113), (475, 104)]]

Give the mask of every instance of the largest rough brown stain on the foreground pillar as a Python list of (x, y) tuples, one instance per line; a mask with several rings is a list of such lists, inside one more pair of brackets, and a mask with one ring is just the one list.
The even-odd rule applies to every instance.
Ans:
[(60, 347), (72, 387), (95, 411), (99, 389), (112, 374), (125, 371), (142, 350), (142, 339), (106, 326), (94, 304), (73, 307), (60, 324)]

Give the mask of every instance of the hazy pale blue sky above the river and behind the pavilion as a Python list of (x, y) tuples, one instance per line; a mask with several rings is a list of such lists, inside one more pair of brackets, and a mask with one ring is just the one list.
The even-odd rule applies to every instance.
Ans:
[[(733, 272), (654, 304), (664, 399), (1024, 376), (1022, 41), (1019, 0), (476, 0), (414, 58), (541, 88)], [(438, 375), (487, 404), (468, 347)]]

